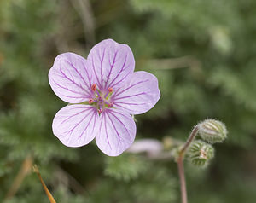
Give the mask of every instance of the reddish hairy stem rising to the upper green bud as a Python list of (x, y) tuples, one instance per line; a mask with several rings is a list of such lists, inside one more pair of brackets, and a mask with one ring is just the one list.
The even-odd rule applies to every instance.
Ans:
[(177, 158), (177, 169), (178, 169), (178, 176), (180, 180), (180, 191), (181, 191), (182, 203), (188, 202), (186, 180), (185, 180), (184, 167), (183, 167), (183, 158), (187, 148), (189, 148), (190, 143), (194, 140), (195, 136), (197, 135), (197, 132), (198, 132), (198, 126), (196, 125), (193, 131), (190, 133), (187, 142), (184, 143), (183, 148), (181, 148), (181, 150), (179, 151), (178, 158)]

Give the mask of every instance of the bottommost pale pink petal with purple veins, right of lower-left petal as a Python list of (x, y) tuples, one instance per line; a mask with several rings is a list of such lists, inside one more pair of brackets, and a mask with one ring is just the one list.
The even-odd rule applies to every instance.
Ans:
[(100, 119), (97, 146), (109, 156), (122, 154), (131, 146), (136, 135), (136, 125), (131, 115), (110, 108), (105, 109)]

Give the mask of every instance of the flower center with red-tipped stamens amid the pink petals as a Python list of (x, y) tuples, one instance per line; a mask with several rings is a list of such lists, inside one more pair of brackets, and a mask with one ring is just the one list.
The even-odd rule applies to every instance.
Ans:
[(96, 84), (92, 84), (91, 90), (94, 92), (94, 96), (88, 102), (97, 108), (99, 114), (104, 109), (113, 107), (113, 102), (110, 100), (113, 94), (113, 88), (109, 87), (107, 91), (101, 91), (96, 88)]

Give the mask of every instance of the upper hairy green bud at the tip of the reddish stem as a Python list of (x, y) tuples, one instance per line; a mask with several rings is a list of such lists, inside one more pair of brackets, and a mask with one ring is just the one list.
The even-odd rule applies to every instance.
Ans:
[(199, 135), (201, 138), (211, 144), (216, 142), (223, 142), (227, 137), (227, 130), (224, 123), (215, 119), (206, 119), (199, 125)]

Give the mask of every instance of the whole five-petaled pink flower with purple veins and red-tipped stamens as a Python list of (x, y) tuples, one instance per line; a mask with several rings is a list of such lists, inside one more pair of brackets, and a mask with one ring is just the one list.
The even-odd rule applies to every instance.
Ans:
[(134, 72), (134, 67), (130, 47), (112, 39), (96, 44), (87, 60), (73, 53), (58, 55), (49, 84), (69, 105), (55, 114), (54, 135), (73, 148), (96, 138), (103, 153), (122, 154), (136, 136), (131, 114), (147, 112), (160, 98), (157, 78)]

